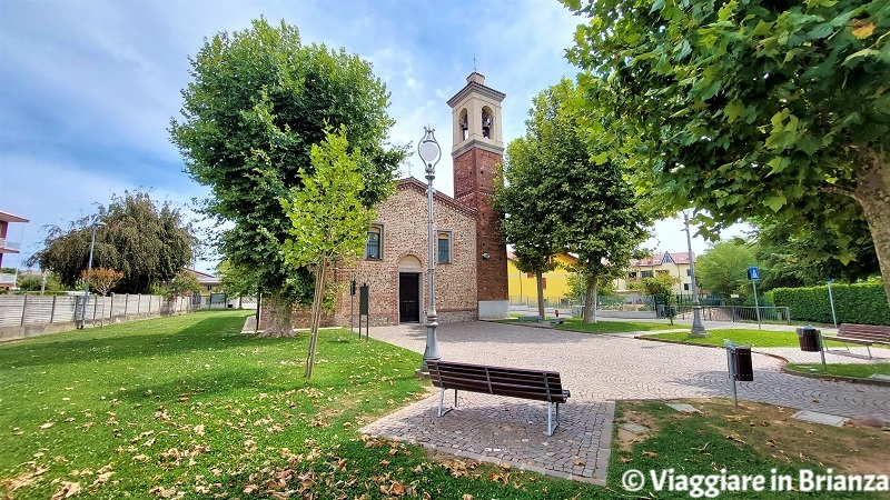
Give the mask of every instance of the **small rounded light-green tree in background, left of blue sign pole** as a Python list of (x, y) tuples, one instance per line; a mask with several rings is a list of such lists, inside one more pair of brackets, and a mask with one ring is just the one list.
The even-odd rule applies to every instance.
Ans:
[(695, 262), (695, 279), (712, 293), (729, 297), (748, 280), (748, 268), (756, 264), (754, 252), (745, 243), (720, 241)]

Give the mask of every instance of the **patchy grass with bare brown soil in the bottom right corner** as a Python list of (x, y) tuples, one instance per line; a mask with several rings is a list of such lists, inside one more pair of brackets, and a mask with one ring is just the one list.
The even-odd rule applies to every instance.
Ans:
[[(675, 474), (762, 474), (767, 491), (721, 493), (719, 498), (881, 498), (861, 492), (777, 492), (770, 491), (771, 470), (789, 474), (800, 487), (800, 470), (825, 474), (887, 473), (888, 432), (876, 428), (829, 427), (791, 419), (797, 410), (726, 400), (688, 401), (702, 413), (680, 413), (663, 402), (620, 401), (609, 466), (609, 486), (615, 498), (690, 498), (690, 492), (657, 491), (649, 480), (651, 470), (660, 473), (674, 469)], [(621, 429), (622, 423), (644, 426), (639, 436)], [(646, 474), (645, 487), (631, 496), (621, 487), (621, 478), (631, 470)], [(701, 494), (699, 496), (701, 497)], [(886, 493), (884, 497), (886, 498)]]

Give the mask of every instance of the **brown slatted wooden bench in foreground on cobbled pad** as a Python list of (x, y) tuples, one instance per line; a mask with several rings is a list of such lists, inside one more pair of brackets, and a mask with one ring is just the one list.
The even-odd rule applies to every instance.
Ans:
[[(511, 398), (532, 399), (547, 403), (547, 436), (560, 426), (560, 403), (568, 399), (560, 373), (555, 371), (525, 370), (520, 368), (486, 367), (483, 364), (456, 363), (426, 360), (433, 386), (442, 389), (438, 397), (438, 416), (457, 407), (457, 391), (482, 392)], [(444, 409), (445, 390), (454, 390), (454, 408)], [(553, 410), (556, 407), (554, 422)]]

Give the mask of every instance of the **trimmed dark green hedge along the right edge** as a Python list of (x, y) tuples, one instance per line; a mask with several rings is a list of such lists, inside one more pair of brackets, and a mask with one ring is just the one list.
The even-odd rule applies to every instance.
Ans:
[[(834, 312), (840, 323), (888, 324), (890, 307), (882, 284), (832, 284)], [(788, 307), (794, 321), (831, 324), (828, 287), (777, 288), (775, 306)]]

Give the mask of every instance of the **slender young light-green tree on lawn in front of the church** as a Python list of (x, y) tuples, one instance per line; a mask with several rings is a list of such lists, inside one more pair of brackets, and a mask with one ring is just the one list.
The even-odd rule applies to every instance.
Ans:
[(306, 357), (306, 378), (312, 378), (315, 364), (318, 322), (332, 262), (355, 259), (365, 247), (368, 224), (376, 217), (373, 208), (362, 202), (362, 174), (358, 166), (362, 151), (349, 151), (346, 127), (327, 139), (313, 144), (313, 173), (300, 171), (303, 189), (290, 189), (281, 206), (290, 220), (290, 238), (285, 240), (285, 259), (295, 268), (315, 269), (309, 353)]

